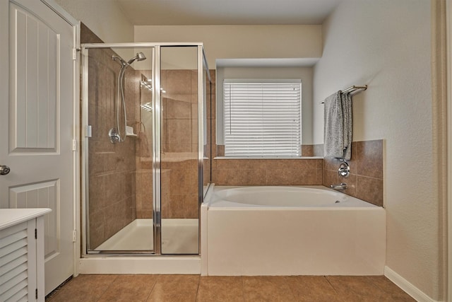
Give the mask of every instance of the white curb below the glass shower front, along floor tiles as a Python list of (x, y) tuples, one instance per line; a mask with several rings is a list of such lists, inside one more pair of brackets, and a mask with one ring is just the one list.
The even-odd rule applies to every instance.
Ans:
[(80, 274), (201, 274), (201, 257), (85, 257)]

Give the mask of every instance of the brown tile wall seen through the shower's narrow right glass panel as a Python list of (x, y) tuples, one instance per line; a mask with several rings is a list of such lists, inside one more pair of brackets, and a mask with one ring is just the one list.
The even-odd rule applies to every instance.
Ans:
[(198, 218), (198, 75), (162, 70), (162, 218)]

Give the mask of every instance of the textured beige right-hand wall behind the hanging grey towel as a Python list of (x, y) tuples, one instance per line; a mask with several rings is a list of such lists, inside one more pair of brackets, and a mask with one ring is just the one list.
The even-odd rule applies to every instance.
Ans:
[[(350, 85), (353, 141), (383, 139), (386, 265), (441, 300), (439, 202), (433, 180), (430, 1), (345, 0), (323, 25), (314, 104)], [(323, 105), (314, 105), (314, 144)]]

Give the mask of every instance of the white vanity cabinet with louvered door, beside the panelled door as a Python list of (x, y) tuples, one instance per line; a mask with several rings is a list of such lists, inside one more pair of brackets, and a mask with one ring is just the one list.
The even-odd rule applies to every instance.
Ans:
[(44, 301), (44, 214), (0, 209), (0, 301)]

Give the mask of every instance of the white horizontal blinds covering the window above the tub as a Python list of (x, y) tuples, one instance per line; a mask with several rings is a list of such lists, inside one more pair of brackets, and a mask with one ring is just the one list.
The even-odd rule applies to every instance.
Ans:
[[(241, 84), (249, 85), (250, 88), (261, 89), (261, 86), (267, 86), (267, 88), (286, 88), (285, 84), (290, 84), (297, 88), (297, 95), (288, 95), (285, 91), (285, 100), (288, 100), (286, 109), (282, 112), (286, 115), (286, 120), (280, 120), (278, 115), (275, 115), (274, 110), (280, 110), (280, 106), (278, 106), (278, 98), (274, 100), (270, 96), (264, 96), (263, 101), (260, 100), (260, 96), (256, 95), (256, 93), (247, 94), (247, 91), (244, 91), (243, 95), (239, 95), (239, 98), (235, 99), (234, 103), (230, 103), (230, 94), (229, 90), (226, 88), (227, 86), (230, 88), (231, 84), (237, 83), (235, 88), (240, 89), (239, 86)], [(278, 86), (280, 83), (283, 86)], [(267, 85), (268, 84), (268, 85)], [(287, 118), (290, 117), (292, 113), (290, 113), (290, 106), (294, 106), (293, 98), (297, 97), (297, 103), (295, 103), (294, 109), (296, 110), (295, 116), (291, 118), (295, 118), (294, 123), (287, 122)], [(287, 98), (288, 97), (288, 98)], [(292, 98), (292, 100), (290, 100)], [(248, 106), (246, 104), (246, 99), (254, 100), (254, 104), (250, 103)], [(282, 102), (283, 99), (279, 98)], [(292, 104), (290, 104), (292, 102)], [(260, 105), (264, 105), (265, 108)], [(231, 107), (232, 106), (232, 107)], [(238, 106), (238, 107), (237, 107)], [(255, 112), (254, 118), (250, 118), (250, 120), (243, 119), (240, 117), (241, 110), (249, 110), (250, 112)], [(257, 110), (257, 111), (256, 111)], [(234, 116), (235, 115), (235, 116)], [(225, 141), (225, 157), (299, 157), (301, 156), (301, 144), (302, 144), (302, 81), (301, 79), (224, 79), (223, 81), (223, 134)], [(277, 120), (273, 119), (277, 117)], [(240, 124), (235, 129), (236, 135), (228, 135), (234, 126), (230, 124), (230, 119), (239, 121)], [(273, 124), (270, 126), (271, 121)], [(270, 128), (274, 127), (274, 122), (283, 122), (280, 124), (280, 127), (273, 128), (273, 134), (268, 134), (268, 132), (262, 131), (261, 128), (257, 127), (258, 124), (264, 124)], [(268, 122), (268, 123), (267, 123)], [(293, 125), (296, 126), (296, 129), (290, 129)], [(252, 135), (247, 132), (246, 127), (251, 127), (250, 131), (254, 132), (255, 135)], [(254, 130), (251, 130), (253, 129)], [(282, 129), (281, 127), (285, 128)], [(280, 128), (280, 129), (278, 129)], [(275, 134), (275, 131), (277, 132)], [(286, 139), (278, 138), (279, 133), (281, 135), (285, 135)], [(294, 137), (295, 134), (295, 137)], [(249, 135), (249, 137), (247, 137)], [(266, 144), (266, 142), (268, 144)]]

